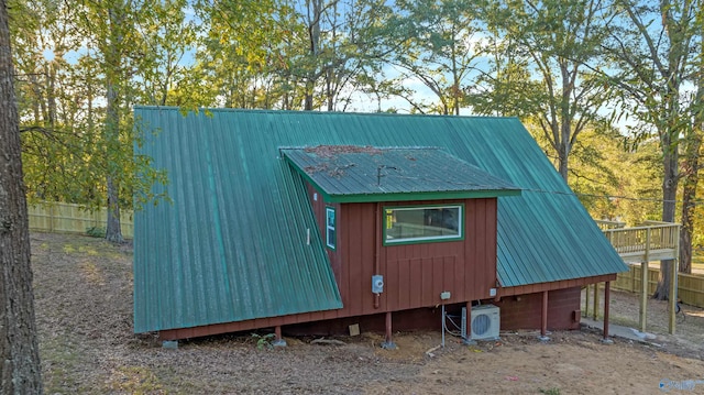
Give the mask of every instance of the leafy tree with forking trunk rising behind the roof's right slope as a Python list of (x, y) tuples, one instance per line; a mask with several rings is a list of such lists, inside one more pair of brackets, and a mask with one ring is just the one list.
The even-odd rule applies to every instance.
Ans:
[(601, 121), (608, 99), (590, 70), (605, 35), (600, 7), (598, 0), (483, 4), (491, 69), (469, 89), (468, 103), (479, 113), (534, 119), (565, 180), (579, 134)]

